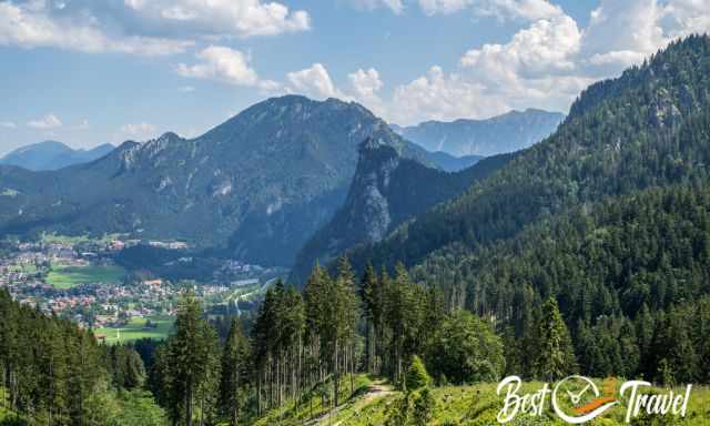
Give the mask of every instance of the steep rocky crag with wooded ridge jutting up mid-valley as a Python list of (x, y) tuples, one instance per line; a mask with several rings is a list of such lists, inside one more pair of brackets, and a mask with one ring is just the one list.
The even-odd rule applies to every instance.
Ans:
[(303, 283), (316, 261), (325, 265), (347, 248), (379, 242), (407, 219), (460, 194), (513, 158), (496, 155), (448, 173), (404, 159), (374, 139), (365, 140), (344, 205), (298, 252), (291, 281)]

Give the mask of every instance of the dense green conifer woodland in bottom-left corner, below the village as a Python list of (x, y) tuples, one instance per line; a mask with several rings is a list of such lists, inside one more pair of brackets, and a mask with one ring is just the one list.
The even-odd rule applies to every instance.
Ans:
[[(140, 355), (0, 291), (0, 416), (8, 425), (162, 425)], [(1, 412), (0, 412), (1, 413)]]

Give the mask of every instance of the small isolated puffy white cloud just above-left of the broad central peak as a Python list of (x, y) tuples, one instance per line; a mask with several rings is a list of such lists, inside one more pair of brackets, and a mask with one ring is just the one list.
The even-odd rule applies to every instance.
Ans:
[(200, 51), (196, 57), (200, 59), (200, 63), (194, 65), (181, 63), (175, 70), (178, 74), (264, 90), (274, 90), (278, 87), (278, 83), (274, 81), (261, 80), (256, 71), (250, 67), (250, 58), (239, 50), (211, 45)]

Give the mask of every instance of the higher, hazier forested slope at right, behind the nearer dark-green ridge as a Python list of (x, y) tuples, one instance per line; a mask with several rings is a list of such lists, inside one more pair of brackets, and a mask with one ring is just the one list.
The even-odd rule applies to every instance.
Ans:
[(415, 265), (453, 243), (468, 247), (581, 203), (650, 186), (702, 181), (710, 142), (710, 38), (671, 43), (640, 68), (587, 89), (557, 132), (456, 200), (354, 251)]

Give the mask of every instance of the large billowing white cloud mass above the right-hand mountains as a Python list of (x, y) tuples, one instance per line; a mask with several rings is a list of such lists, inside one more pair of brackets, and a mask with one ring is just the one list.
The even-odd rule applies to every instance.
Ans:
[(396, 87), (386, 116), (403, 124), (526, 106), (565, 111), (588, 84), (618, 75), (677, 37), (710, 30), (709, 0), (601, 0), (584, 29), (544, 0), (419, 2), (432, 13), (473, 6), (529, 23), (507, 42), (469, 49), (456, 70), (434, 67)]

